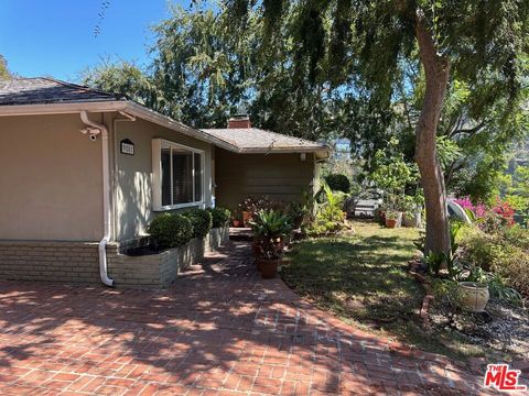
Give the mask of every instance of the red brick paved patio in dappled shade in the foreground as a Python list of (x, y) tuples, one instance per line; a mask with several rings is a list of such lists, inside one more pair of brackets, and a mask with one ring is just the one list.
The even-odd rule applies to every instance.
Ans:
[(249, 252), (231, 242), (169, 290), (1, 282), (0, 394), (484, 394), (483, 371), (344, 324)]

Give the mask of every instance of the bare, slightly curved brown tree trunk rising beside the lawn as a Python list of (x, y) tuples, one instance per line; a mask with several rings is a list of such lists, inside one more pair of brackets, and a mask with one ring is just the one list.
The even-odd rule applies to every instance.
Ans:
[(436, 132), (450, 75), (450, 63), (438, 54), (432, 34), (427, 29), (424, 15), (415, 14), (415, 37), (427, 87), (421, 116), (415, 129), (415, 161), (421, 174), (427, 209), (425, 254), (450, 252), (450, 226), (446, 211), (446, 189), (438, 156)]

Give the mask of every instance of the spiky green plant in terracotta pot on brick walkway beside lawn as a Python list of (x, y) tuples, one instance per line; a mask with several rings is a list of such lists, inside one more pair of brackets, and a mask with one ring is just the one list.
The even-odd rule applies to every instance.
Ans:
[(276, 210), (260, 210), (250, 222), (253, 254), (263, 278), (276, 276), (284, 250), (284, 239), (292, 231), (289, 217)]

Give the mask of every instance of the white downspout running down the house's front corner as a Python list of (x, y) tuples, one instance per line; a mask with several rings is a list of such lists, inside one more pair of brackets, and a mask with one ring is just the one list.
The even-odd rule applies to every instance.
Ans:
[(80, 120), (88, 127), (97, 129), (101, 133), (101, 146), (102, 146), (102, 224), (104, 237), (99, 242), (99, 275), (101, 282), (107, 286), (114, 285), (114, 279), (108, 277), (107, 272), (107, 243), (110, 241), (110, 183), (109, 174), (110, 167), (108, 164), (108, 130), (104, 124), (98, 124), (90, 121), (86, 111), (80, 112)]

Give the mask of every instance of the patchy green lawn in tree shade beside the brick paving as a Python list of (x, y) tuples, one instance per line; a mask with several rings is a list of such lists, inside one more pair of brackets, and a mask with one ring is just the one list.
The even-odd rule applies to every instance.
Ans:
[(294, 244), (281, 268), (284, 282), (319, 308), (364, 330), (434, 353), (479, 355), (454, 337), (432, 337), (421, 327), (425, 293), (408, 274), (418, 231), (374, 222), (352, 224), (354, 234)]

